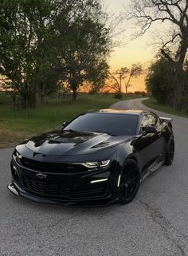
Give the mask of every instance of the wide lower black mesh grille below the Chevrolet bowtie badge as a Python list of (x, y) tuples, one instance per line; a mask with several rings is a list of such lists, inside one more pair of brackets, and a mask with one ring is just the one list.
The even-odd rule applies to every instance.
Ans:
[(71, 197), (75, 199), (100, 197), (104, 195), (107, 186), (87, 186), (80, 189), (75, 189), (73, 186), (69, 186), (62, 183), (49, 183), (38, 179), (33, 179), (29, 176), (22, 175), (22, 181), (25, 184), (25, 190), (33, 193), (37, 193), (44, 196), (57, 196), (57, 197)]

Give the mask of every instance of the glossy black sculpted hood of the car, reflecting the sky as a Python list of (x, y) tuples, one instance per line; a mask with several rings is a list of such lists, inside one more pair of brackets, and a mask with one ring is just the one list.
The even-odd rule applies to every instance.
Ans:
[(112, 148), (130, 138), (100, 132), (54, 131), (34, 136), (25, 141), (25, 147), (43, 155), (82, 155)]

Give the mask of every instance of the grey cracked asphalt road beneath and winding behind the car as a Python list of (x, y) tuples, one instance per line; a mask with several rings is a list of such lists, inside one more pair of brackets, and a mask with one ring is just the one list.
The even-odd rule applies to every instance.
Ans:
[[(114, 108), (146, 108), (141, 100)], [(6, 189), (13, 149), (0, 150), (0, 256), (188, 255), (188, 120), (174, 120), (175, 159), (126, 205), (71, 208), (19, 198)]]

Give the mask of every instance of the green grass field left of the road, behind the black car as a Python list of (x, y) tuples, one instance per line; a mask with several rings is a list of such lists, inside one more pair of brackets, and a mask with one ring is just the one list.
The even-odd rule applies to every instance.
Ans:
[[(132, 97), (128, 97), (131, 99)], [(123, 96), (120, 100), (126, 100)], [(116, 101), (112, 95), (80, 95), (76, 102), (51, 98), (48, 103), (34, 109), (14, 109), (10, 96), (0, 93), (0, 148), (18, 144), (29, 136), (61, 128), (64, 121), (72, 120), (88, 109), (109, 108)]]

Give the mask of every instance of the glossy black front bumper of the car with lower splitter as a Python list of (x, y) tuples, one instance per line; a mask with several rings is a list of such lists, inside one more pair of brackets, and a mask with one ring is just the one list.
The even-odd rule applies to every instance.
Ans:
[[(11, 162), (12, 183), (8, 189), (14, 195), (38, 203), (58, 203), (65, 206), (108, 205), (118, 199), (116, 163), (102, 171), (87, 173), (42, 172), (45, 181), (37, 178), (36, 171), (22, 166), (16, 157)], [(94, 182), (98, 181), (100, 182)]]

